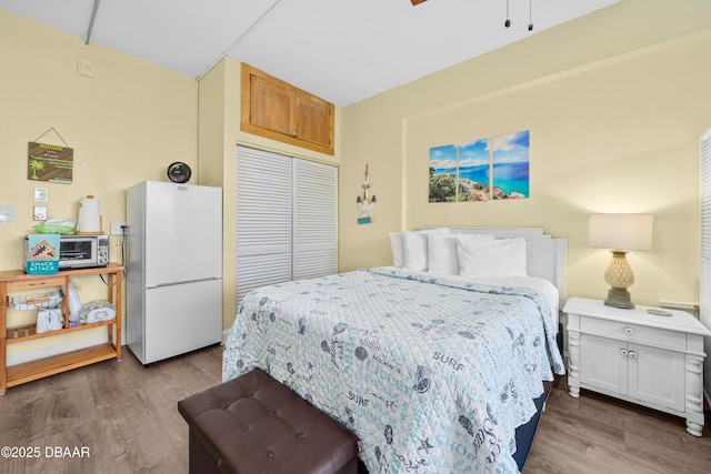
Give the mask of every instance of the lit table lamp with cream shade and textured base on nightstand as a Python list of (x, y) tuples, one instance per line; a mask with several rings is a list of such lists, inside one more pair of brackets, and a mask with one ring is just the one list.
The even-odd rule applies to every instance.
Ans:
[(634, 274), (627, 261), (630, 250), (652, 249), (652, 214), (590, 214), (588, 245), (610, 249), (612, 261), (604, 272), (611, 286), (604, 304), (625, 310), (634, 309), (627, 290), (634, 283)]

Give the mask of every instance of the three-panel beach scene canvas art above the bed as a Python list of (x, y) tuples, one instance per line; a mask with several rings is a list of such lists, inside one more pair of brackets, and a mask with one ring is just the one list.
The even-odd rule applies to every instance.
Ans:
[(529, 198), (528, 130), (430, 149), (430, 202)]

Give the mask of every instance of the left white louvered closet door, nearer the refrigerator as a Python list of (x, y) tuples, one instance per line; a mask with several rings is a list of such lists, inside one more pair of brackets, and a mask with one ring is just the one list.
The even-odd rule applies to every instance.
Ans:
[(238, 147), (237, 302), (256, 288), (291, 280), (289, 157)]

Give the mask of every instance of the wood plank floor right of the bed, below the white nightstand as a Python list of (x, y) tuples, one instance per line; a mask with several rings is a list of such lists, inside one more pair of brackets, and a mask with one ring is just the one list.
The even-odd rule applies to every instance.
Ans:
[(685, 420), (587, 390), (568, 395), (560, 377), (549, 396), (523, 474), (708, 474), (711, 414), (703, 437)]

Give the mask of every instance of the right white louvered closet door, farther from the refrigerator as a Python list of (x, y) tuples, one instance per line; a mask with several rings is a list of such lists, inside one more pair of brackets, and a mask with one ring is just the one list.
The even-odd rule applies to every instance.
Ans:
[(329, 164), (293, 162), (293, 279), (338, 271), (338, 170)]

